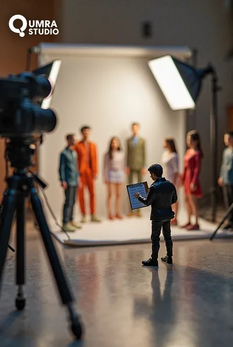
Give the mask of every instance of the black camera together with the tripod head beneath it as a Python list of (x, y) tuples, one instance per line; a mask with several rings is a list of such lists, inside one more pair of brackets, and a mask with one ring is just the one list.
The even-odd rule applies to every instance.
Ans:
[(17, 170), (33, 165), (32, 144), (41, 144), (43, 133), (57, 125), (55, 113), (38, 104), (51, 93), (45, 75), (23, 72), (0, 79), (0, 136), (6, 139), (5, 158)]

